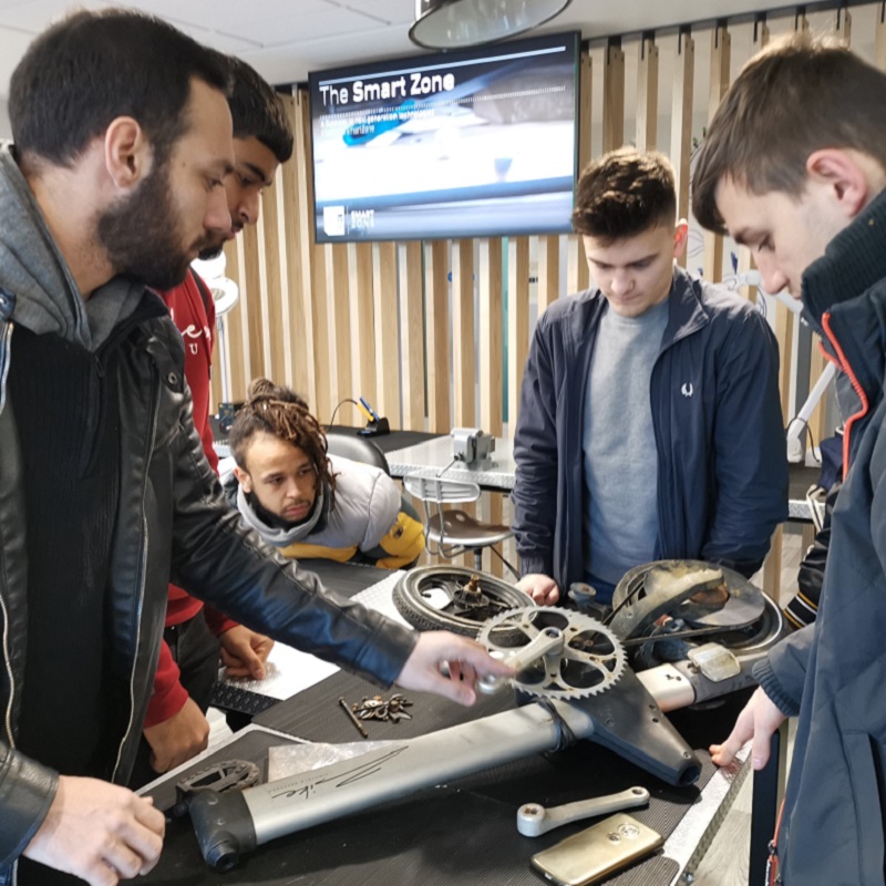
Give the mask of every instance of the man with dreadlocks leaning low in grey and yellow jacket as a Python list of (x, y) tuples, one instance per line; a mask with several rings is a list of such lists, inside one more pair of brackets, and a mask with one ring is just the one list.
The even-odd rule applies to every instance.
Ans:
[(228, 498), (285, 557), (400, 569), (424, 549), (422, 524), (396, 484), (374, 465), (329, 455), (319, 422), (288, 388), (254, 381), (228, 443)]

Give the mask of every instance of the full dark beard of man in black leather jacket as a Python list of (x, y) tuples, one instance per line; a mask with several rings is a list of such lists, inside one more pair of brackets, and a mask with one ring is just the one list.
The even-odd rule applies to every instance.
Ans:
[(181, 229), (165, 162), (132, 196), (100, 216), (97, 236), (117, 274), (155, 289), (172, 289), (185, 279), (193, 251), (214, 243), (206, 234), (190, 248), (183, 247)]

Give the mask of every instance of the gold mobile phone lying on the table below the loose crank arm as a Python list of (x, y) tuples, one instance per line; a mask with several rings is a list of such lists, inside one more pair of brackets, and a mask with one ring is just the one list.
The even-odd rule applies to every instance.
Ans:
[(556, 886), (587, 886), (648, 855), (661, 834), (631, 815), (617, 813), (536, 853), (533, 867)]

